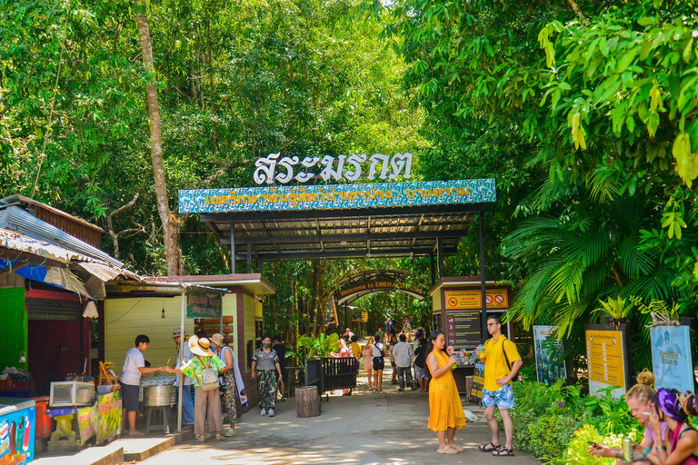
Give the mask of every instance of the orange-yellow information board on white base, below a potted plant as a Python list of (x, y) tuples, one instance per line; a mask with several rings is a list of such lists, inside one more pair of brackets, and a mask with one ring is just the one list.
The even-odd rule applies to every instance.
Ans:
[(603, 396), (599, 392), (611, 386), (613, 399), (620, 399), (627, 386), (627, 350), (623, 329), (602, 329), (602, 325), (585, 327), (586, 359), (589, 367), (589, 392)]

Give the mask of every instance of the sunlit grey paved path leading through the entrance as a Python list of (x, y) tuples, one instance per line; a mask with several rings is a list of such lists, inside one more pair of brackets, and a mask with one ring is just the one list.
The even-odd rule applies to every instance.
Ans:
[[(456, 443), (466, 450), (454, 455), (436, 453), (436, 434), (426, 428), (428, 394), (396, 391), (390, 370), (384, 373), (384, 392), (366, 391), (365, 373), (360, 389), (352, 396), (334, 396), (323, 401), (322, 414), (299, 419), (294, 399), (278, 403), (276, 417), (260, 417), (259, 410), (244, 414), (234, 438), (217, 443), (194, 441), (145, 460), (146, 465), (219, 464), (430, 464), (473, 463), (516, 465), (538, 464), (530, 454), (515, 450), (515, 458), (495, 458), (476, 450), (489, 442), (484, 418), (456, 432)], [(362, 382), (363, 381), (363, 382)], [(482, 410), (467, 406), (478, 416)]]

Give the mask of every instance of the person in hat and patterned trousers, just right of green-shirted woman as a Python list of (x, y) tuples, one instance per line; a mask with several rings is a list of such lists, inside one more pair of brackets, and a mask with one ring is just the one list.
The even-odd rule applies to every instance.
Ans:
[[(222, 407), (224, 415), (227, 415), (229, 428), (223, 430), (224, 436), (235, 435), (235, 421), (237, 421), (237, 407), (235, 398), (240, 400), (240, 403), (247, 403), (247, 396), (244, 396), (243, 377), (240, 373), (240, 368), (237, 366), (237, 359), (233, 348), (224, 345), (223, 334), (216, 332), (211, 336), (211, 347), (214, 353), (224, 362), (225, 366), (220, 371), (221, 395), (223, 397)], [(224, 421), (225, 422), (225, 421)]]

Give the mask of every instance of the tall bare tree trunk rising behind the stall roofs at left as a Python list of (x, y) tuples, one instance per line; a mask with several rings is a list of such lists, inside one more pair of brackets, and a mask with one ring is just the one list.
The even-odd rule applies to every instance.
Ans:
[(157, 102), (157, 88), (155, 87), (155, 66), (153, 64), (153, 49), (150, 42), (150, 29), (148, 18), (143, 11), (144, 5), (136, 0), (135, 21), (138, 25), (138, 36), (141, 39), (141, 55), (145, 71), (154, 75), (149, 77), (145, 85), (145, 94), (148, 100), (148, 116), (150, 118), (150, 153), (153, 161), (153, 173), (155, 175), (155, 195), (157, 197), (157, 213), (163, 223), (163, 236), (165, 242), (165, 262), (167, 274), (175, 276), (184, 274), (182, 266), (182, 251), (179, 248), (179, 221), (170, 210), (167, 201), (167, 184), (165, 181), (165, 166), (163, 163), (163, 133), (160, 127), (160, 108)]

